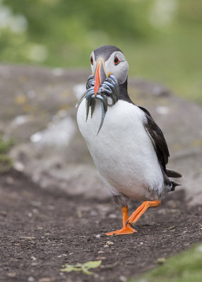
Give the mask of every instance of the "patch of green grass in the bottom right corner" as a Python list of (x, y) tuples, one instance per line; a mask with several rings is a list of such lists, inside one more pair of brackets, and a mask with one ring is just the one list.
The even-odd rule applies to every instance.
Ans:
[(202, 245), (170, 257), (165, 264), (128, 282), (201, 282)]

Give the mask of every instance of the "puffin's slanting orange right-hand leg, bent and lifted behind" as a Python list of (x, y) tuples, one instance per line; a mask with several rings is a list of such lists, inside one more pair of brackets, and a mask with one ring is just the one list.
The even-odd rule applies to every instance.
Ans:
[(126, 226), (129, 224), (129, 226), (131, 226), (131, 224), (136, 223), (138, 221), (138, 219), (143, 215), (143, 213), (150, 207), (158, 207), (160, 205), (160, 201), (159, 200), (154, 200), (154, 201), (146, 201), (143, 202), (141, 204), (140, 207), (138, 207), (138, 209), (136, 209), (135, 212), (133, 212), (133, 214), (131, 214), (131, 216), (129, 217), (129, 219), (126, 221)]

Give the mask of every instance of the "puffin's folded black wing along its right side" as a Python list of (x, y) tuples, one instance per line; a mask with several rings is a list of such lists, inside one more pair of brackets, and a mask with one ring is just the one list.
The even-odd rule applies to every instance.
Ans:
[(163, 170), (166, 173), (165, 165), (167, 164), (168, 157), (170, 157), (170, 153), (167, 148), (167, 142), (165, 140), (165, 137), (160, 127), (155, 123), (153, 118), (150, 116), (150, 113), (142, 107), (139, 108), (145, 112), (145, 117), (146, 117), (144, 123), (145, 130), (148, 133), (150, 140), (153, 142), (153, 147), (155, 148), (158, 161), (160, 162)]

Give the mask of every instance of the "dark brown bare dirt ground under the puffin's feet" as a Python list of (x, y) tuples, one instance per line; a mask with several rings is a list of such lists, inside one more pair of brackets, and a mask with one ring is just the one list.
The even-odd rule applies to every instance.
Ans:
[[(182, 191), (148, 210), (136, 223), (138, 233), (115, 237), (104, 234), (121, 225), (112, 202), (42, 190), (16, 171), (1, 175), (0, 195), (0, 281), (124, 282), (202, 241), (202, 206), (188, 209)], [(99, 259), (92, 276), (60, 271), (66, 263)]]

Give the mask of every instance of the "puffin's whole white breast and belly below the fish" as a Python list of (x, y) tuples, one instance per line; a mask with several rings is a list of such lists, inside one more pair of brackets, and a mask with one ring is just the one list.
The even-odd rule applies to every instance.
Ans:
[(102, 180), (112, 195), (120, 192), (136, 200), (148, 199), (148, 191), (161, 192), (163, 177), (150, 137), (145, 114), (138, 106), (119, 100), (108, 107), (100, 133), (100, 102), (85, 122), (85, 100), (78, 108), (78, 127), (88, 145)]

